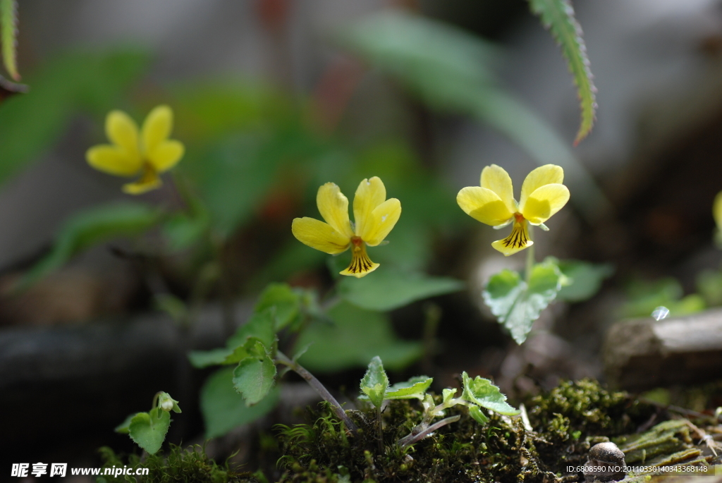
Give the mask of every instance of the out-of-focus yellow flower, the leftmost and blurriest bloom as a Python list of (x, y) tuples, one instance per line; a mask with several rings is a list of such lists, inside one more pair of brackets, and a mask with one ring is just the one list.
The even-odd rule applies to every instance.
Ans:
[(137, 176), (123, 191), (140, 194), (161, 186), (160, 173), (170, 170), (183, 157), (183, 143), (168, 139), (173, 129), (173, 110), (167, 105), (154, 108), (138, 126), (122, 110), (111, 110), (105, 118), (105, 134), (113, 144), (99, 144), (85, 153), (96, 170), (117, 176)]

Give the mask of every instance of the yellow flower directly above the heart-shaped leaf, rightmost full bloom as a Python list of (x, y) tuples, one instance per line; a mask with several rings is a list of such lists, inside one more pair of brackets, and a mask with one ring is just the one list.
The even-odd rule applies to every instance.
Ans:
[(456, 202), (470, 217), (492, 227), (501, 228), (513, 222), (511, 234), (492, 243), (492, 247), (510, 256), (534, 244), (529, 238), (529, 224), (548, 230), (544, 222), (567, 204), (569, 190), (563, 180), (564, 170), (560, 166), (537, 167), (526, 176), (517, 203), (509, 174), (502, 167), (491, 165), (482, 170), (482, 186), (461, 189)]

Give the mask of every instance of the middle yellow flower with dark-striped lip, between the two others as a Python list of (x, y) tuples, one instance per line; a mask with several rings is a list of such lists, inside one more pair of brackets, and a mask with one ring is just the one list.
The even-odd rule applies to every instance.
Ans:
[(393, 225), (401, 216), (401, 202), (386, 199), (386, 187), (380, 178), (362, 180), (354, 197), (355, 226), (349, 220), (349, 200), (335, 183), (318, 188), (316, 204), (321, 217), (303, 217), (293, 220), (291, 231), (305, 245), (316, 250), (338, 255), (352, 247), (351, 264), (339, 272), (357, 278), (378, 269), (366, 253), (366, 245), (376, 246), (383, 242)]

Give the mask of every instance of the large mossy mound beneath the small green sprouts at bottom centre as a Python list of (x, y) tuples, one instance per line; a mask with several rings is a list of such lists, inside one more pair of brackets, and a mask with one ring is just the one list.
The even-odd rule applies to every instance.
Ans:
[(527, 404), (533, 432), (523, 429), (521, 418), (495, 413), (479, 425), (455, 406), (446, 416), (460, 414), (458, 422), (401, 449), (396, 441), (421, 421), (422, 410), (415, 401), (389, 401), (382, 415), (383, 454), (375, 412), (349, 413), (360, 427), (351, 437), (328, 410), (309, 411), (308, 425), (280, 427), (280, 482), (548, 482), (565, 465), (583, 464), (591, 445), (634, 432), (655, 411), (591, 380), (562, 383)]

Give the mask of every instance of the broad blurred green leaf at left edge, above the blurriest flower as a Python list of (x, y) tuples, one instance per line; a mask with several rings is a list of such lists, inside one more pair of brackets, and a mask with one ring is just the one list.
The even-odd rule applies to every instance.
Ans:
[(148, 63), (144, 51), (75, 52), (28, 75), (32, 90), (0, 103), (0, 183), (51, 149), (78, 110), (100, 118), (122, 104)]

